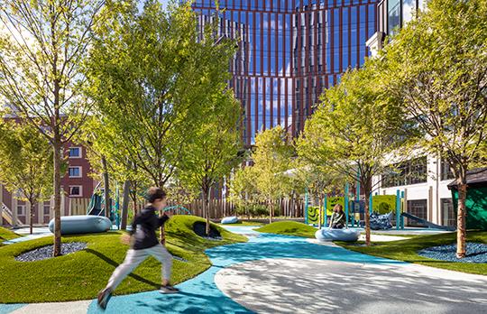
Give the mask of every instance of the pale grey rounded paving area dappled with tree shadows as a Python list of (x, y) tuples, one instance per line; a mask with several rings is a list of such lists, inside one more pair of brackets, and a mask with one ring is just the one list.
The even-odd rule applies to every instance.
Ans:
[(487, 277), (418, 264), (264, 259), (216, 273), (258, 313), (485, 313)]

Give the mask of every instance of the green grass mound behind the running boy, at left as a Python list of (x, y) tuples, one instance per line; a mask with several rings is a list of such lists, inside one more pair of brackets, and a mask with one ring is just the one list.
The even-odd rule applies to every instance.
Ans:
[[(171, 254), (188, 260), (174, 260), (171, 281), (176, 284), (195, 277), (210, 267), (204, 251), (216, 245), (244, 242), (220, 226), (222, 241), (205, 240), (193, 232), (199, 217), (175, 216), (166, 225), (167, 247)], [(63, 242), (86, 242), (87, 249), (38, 262), (17, 262), (14, 257), (44, 245), (52, 245), (52, 237), (44, 237), (0, 248), (0, 303), (87, 300), (96, 297), (105, 287), (115, 267), (124, 261), (127, 245), (120, 242), (123, 232), (96, 235), (67, 235)], [(159, 289), (161, 263), (152, 257), (142, 263), (118, 287), (115, 294)]]

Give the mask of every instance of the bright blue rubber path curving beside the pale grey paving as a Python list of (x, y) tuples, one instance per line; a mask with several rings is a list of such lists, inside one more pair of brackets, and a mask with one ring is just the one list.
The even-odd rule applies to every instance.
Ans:
[[(105, 313), (252, 313), (216, 287), (215, 274), (235, 263), (244, 263), (264, 258), (306, 258), (357, 263), (403, 263), (371, 255), (354, 253), (341, 247), (316, 245), (305, 238), (285, 235), (258, 234), (255, 226), (229, 226), (234, 233), (249, 236), (247, 243), (217, 246), (207, 250), (213, 266), (197, 277), (180, 283), (178, 294), (161, 294), (148, 291), (113, 297)], [(106, 279), (108, 280), (108, 278)], [(22, 308), (0, 305), (0, 313)], [(88, 313), (101, 313), (93, 300)]]

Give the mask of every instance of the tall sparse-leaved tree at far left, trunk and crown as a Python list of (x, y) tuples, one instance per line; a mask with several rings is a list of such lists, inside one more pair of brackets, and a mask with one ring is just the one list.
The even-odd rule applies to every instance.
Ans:
[(60, 255), (60, 165), (63, 143), (78, 132), (91, 102), (80, 64), (104, 0), (0, 2), (0, 94), (23, 122), (51, 143), (54, 166), (54, 256)]

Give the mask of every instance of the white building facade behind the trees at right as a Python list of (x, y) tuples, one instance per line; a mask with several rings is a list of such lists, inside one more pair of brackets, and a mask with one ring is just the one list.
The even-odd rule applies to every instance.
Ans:
[[(425, 0), (382, 0), (377, 5), (378, 30), (367, 41), (372, 57), (381, 51), (385, 38), (413, 18), (418, 9), (426, 7)], [(453, 180), (448, 164), (434, 155), (415, 154), (408, 162), (391, 165), (375, 178), (373, 194), (404, 193), (404, 210), (409, 214), (443, 226), (456, 226), (452, 193), (447, 188)], [(409, 225), (414, 225), (412, 221)]]

